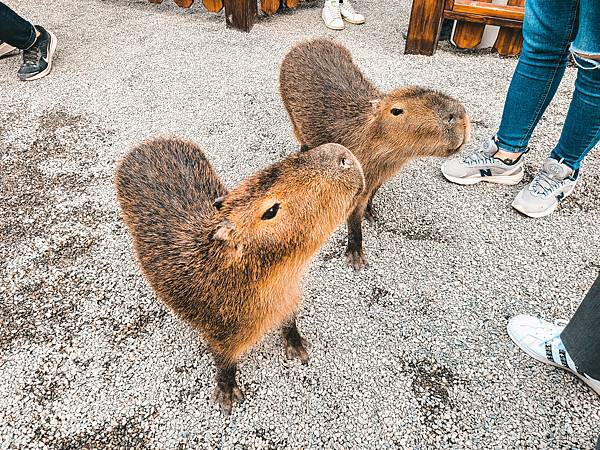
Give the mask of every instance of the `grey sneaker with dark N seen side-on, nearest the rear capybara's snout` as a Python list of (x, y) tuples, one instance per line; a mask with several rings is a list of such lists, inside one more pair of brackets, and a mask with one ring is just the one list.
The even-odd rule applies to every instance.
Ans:
[(494, 155), (498, 146), (494, 139), (484, 142), (481, 149), (464, 158), (454, 158), (442, 164), (442, 174), (458, 184), (476, 184), (481, 181), (498, 184), (517, 184), (523, 179), (523, 157), (515, 161), (502, 160)]

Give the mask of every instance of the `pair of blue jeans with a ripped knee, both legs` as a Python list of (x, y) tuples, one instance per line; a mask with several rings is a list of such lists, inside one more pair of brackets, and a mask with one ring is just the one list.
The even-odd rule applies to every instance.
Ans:
[(575, 91), (550, 156), (578, 170), (600, 141), (600, 59), (595, 59), (600, 55), (600, 0), (527, 0), (523, 50), (504, 104), (499, 148), (527, 151), (531, 133), (565, 73), (569, 53), (578, 66)]

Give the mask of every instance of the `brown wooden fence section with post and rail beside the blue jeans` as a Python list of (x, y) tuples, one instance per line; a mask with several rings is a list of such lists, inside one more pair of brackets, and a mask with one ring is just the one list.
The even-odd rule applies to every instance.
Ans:
[(494, 49), (503, 56), (521, 52), (525, 0), (508, 0), (495, 5), (492, 0), (413, 0), (404, 53), (433, 55), (444, 19), (457, 20), (453, 43), (458, 48), (475, 48), (486, 25), (500, 31)]

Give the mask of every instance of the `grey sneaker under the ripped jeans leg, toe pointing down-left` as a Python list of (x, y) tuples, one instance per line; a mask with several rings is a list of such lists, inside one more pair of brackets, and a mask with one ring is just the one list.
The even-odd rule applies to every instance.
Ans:
[(529, 217), (550, 215), (562, 199), (571, 195), (577, 175), (566, 164), (548, 158), (531, 183), (517, 194), (512, 206)]

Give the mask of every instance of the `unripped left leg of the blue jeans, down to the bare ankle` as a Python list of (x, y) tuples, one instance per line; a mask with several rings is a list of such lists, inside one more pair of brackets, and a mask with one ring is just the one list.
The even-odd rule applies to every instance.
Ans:
[[(528, 0), (523, 49), (497, 133), (499, 157), (518, 157), (554, 97), (577, 32), (577, 0)], [(512, 155), (510, 155), (512, 153)]]

